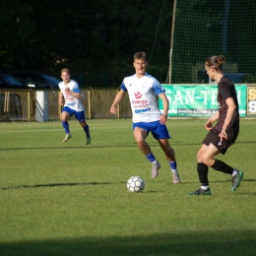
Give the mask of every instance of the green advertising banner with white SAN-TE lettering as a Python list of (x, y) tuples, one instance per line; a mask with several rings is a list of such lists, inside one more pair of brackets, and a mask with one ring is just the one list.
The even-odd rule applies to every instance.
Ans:
[[(168, 116), (212, 116), (218, 111), (217, 85), (162, 85), (169, 100)], [(235, 85), (240, 116), (246, 115), (246, 85)], [(160, 100), (162, 112), (162, 101)]]

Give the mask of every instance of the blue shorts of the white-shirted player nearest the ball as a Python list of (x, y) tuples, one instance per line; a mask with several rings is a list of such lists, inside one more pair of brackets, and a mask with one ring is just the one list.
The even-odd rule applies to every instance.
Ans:
[(160, 139), (170, 139), (167, 127), (165, 124), (160, 124), (160, 121), (150, 122), (150, 123), (133, 123), (133, 130), (135, 127), (142, 128), (143, 130), (147, 131), (147, 136), (149, 132), (152, 133), (153, 137), (156, 140)]

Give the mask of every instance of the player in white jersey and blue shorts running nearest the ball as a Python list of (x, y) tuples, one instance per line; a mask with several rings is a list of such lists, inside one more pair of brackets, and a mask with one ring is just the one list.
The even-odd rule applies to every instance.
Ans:
[[(136, 74), (123, 80), (120, 91), (111, 105), (110, 113), (117, 113), (117, 105), (128, 92), (133, 112), (133, 134), (141, 152), (152, 162), (152, 177), (155, 178), (159, 175), (160, 162), (156, 160), (149, 144), (145, 141), (149, 132), (158, 140), (160, 148), (169, 162), (173, 183), (178, 184), (180, 183), (180, 178), (177, 171), (175, 153), (169, 146), (168, 139), (170, 136), (165, 126), (168, 99), (160, 82), (146, 73), (147, 65), (147, 54), (145, 52), (134, 54), (133, 66)], [(157, 96), (160, 97), (163, 103), (162, 114), (158, 107)]]

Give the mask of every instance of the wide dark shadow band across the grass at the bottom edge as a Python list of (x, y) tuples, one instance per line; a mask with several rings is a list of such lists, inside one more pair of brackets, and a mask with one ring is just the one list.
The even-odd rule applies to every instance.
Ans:
[[(129, 217), (127, 219), (130, 220)], [(134, 229), (141, 230), (140, 224), (133, 223), (131, 222), (129, 225), (134, 226)], [(98, 225), (100, 226), (100, 224)], [(229, 230), (171, 230), (163, 233), (135, 233), (134, 235), (107, 236), (102, 232), (102, 235), (98, 236), (87, 235), (75, 238), (62, 236), (60, 235), (60, 238), (31, 238), (26, 241), (0, 242), (1, 255), (18, 255), (18, 252), (20, 256), (256, 255), (256, 231), (249, 227), (240, 228), (234, 234)], [(207, 238), (202, 239), (202, 237)]]

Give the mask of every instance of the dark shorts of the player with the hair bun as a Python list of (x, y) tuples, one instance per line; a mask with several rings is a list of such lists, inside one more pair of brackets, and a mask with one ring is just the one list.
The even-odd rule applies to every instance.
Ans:
[(226, 133), (227, 140), (223, 138), (221, 142), (220, 132), (215, 128), (209, 131), (202, 144), (209, 146), (211, 143), (224, 155), (226, 150), (235, 142), (238, 131), (232, 133)]

